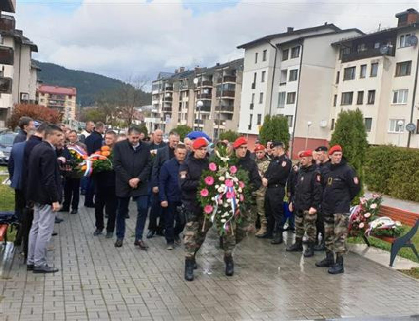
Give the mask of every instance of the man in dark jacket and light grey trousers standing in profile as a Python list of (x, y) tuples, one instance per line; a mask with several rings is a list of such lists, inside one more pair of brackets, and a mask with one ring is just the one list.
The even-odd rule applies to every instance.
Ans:
[(29, 157), (27, 200), (34, 203), (34, 219), (29, 234), (27, 269), (34, 273), (54, 273), (58, 269), (47, 265), (46, 247), (54, 229), (54, 212), (62, 201), (62, 183), (55, 146), (63, 132), (57, 125), (45, 130), (45, 140), (35, 146)]

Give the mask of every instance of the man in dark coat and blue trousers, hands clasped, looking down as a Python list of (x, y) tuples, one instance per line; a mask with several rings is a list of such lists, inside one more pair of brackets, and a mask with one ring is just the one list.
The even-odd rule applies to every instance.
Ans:
[(138, 210), (134, 245), (139, 246), (141, 250), (147, 250), (142, 238), (147, 218), (147, 183), (151, 156), (149, 146), (140, 141), (140, 133), (141, 130), (137, 126), (132, 126), (128, 129), (127, 139), (114, 146), (115, 191), (119, 201), (115, 247), (121, 247), (124, 243), (125, 215), (128, 213), (130, 198), (133, 197)]

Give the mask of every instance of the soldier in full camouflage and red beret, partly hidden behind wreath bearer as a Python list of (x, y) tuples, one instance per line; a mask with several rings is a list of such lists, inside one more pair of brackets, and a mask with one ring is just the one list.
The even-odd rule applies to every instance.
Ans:
[[(256, 164), (258, 165), (259, 175), (261, 178), (264, 176), (270, 160), (267, 159), (265, 153), (265, 146), (262, 144), (258, 144), (255, 146), (255, 154), (256, 154)], [(258, 190), (256, 190), (253, 195), (256, 198), (256, 210), (257, 214), (259, 215), (259, 220), (261, 223), (261, 228), (258, 232), (255, 233), (255, 236), (263, 235), (266, 233), (267, 228), (267, 219), (265, 215), (265, 192), (266, 187), (261, 186)]]

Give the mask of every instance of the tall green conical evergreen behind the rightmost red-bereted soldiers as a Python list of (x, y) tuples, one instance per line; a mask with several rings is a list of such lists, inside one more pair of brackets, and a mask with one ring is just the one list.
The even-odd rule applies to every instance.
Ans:
[[(339, 113), (335, 131), (330, 139), (330, 146), (333, 145), (342, 146), (343, 156), (355, 168), (362, 182), (368, 141), (363, 114), (359, 109)], [(360, 192), (360, 195), (362, 194), (363, 188)]]

